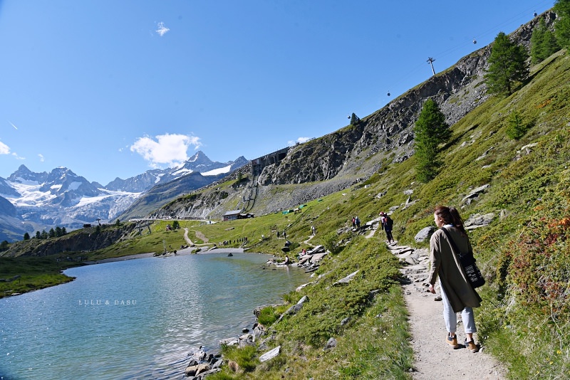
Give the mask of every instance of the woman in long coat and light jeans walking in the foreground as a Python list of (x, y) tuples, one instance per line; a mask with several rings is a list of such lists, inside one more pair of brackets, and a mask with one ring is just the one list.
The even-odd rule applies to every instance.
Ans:
[[(445, 228), (449, 232), (455, 245), (460, 252), (473, 252), (469, 237), (463, 226), (463, 220), (459, 212), (453, 207), (437, 206), (433, 213), (433, 219), (439, 230), (430, 238), (430, 275), (429, 290), (435, 293), (433, 288), (435, 280), (439, 277), (441, 297), (443, 301), (443, 319), (447, 327), (445, 342), (453, 349), (467, 347), (471, 352), (479, 351), (475, 344), (473, 333), (477, 332), (473, 307), (481, 306), (481, 297), (477, 294), (471, 283), (463, 275), (458, 259), (452, 252), (450, 241), (442, 231)], [(457, 344), (457, 312), (461, 312), (461, 319), (465, 329), (465, 342)]]

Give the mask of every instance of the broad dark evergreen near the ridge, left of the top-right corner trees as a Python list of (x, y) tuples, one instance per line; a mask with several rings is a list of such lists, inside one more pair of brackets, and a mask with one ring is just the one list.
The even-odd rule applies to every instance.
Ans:
[(497, 34), (489, 56), (489, 70), (484, 75), (489, 93), (511, 95), (514, 83), (529, 76), (528, 58), (524, 46), (513, 43), (503, 32)]

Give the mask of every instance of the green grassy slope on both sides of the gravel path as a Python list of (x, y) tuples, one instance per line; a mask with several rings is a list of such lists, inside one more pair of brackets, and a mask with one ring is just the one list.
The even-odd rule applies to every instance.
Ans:
[[(570, 59), (563, 51), (534, 67), (529, 83), (512, 96), (494, 97), (454, 125), (452, 142), (443, 152), (445, 166), (429, 184), (415, 182), (414, 159), (409, 159), (373, 176), (368, 189), (325, 197), (320, 204), (323, 212), (312, 214), (318, 218), (306, 218), (295, 225), (299, 231), (308, 231), (314, 223), (319, 233), (311, 243), (326, 243), (326, 231), (345, 225), (348, 216), (358, 214), (367, 221), (378, 211), (402, 205), (408, 198), (403, 194), (407, 189), (413, 189), (416, 203), (400, 207), (393, 215), (394, 234), (400, 243), (417, 245), (415, 233), (432, 225), (437, 204), (462, 207), (466, 219), (477, 213), (494, 213), (490, 226), (470, 232), (488, 278), (488, 285), (481, 290), (484, 305), (476, 313), (479, 337), (489, 352), (507, 363), (513, 379), (564, 378), (570, 369), (566, 339), (570, 335), (570, 255), (560, 237), (570, 236), (566, 230), (570, 225), (569, 82)], [(518, 141), (504, 132), (512, 110), (530, 127)], [(517, 153), (531, 143), (537, 145), (530, 154)], [(486, 193), (471, 204), (463, 201), (471, 189), (483, 184), (490, 185)], [(375, 197), (383, 191), (384, 196)], [(313, 211), (310, 207), (306, 213)], [(295, 302), (307, 295), (310, 301), (298, 315), (271, 326), (275, 332), (271, 347), (281, 344), (283, 354), (252, 371), (224, 372), (218, 379), (408, 376), (412, 358), (406, 341), (405, 310), (398, 286), (390, 285), (395, 283), (396, 265), (381, 238), (366, 241), (361, 236), (341, 236), (338, 240), (343, 237), (352, 240), (321, 266), (319, 273), (326, 275), (300, 294), (286, 296)], [(295, 235), (292, 238), (300, 240)], [(522, 242), (521, 238), (526, 239)], [(536, 252), (549, 260), (537, 262)], [(351, 285), (331, 286), (357, 269), (363, 274)], [(546, 285), (533, 287), (529, 283)], [(371, 300), (366, 295), (373, 288), (381, 292)], [(347, 317), (350, 322), (341, 326)], [(338, 347), (323, 352), (328, 337), (335, 337)], [(245, 360), (234, 350), (227, 355)]]

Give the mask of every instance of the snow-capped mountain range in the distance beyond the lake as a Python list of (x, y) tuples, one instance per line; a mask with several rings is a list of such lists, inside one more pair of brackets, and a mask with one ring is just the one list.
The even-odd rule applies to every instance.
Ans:
[(199, 186), (205, 186), (247, 162), (244, 157), (226, 163), (212, 162), (197, 152), (179, 167), (153, 169), (129, 179), (117, 178), (107, 186), (90, 182), (65, 167), (34, 173), (21, 165), (7, 179), (0, 177), (0, 241), (20, 240), (22, 231), (33, 235), (55, 226), (71, 231), (98, 220), (112, 223), (154, 186), (160, 184), (167, 191), (170, 181), (190, 173), (203, 173), (199, 175)]

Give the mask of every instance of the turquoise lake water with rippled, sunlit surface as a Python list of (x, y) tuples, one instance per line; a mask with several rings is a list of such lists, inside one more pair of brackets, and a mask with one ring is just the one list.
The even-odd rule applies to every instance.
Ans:
[(306, 283), (268, 255), (141, 258), (66, 270), (0, 300), (0, 379), (182, 379), (200, 345), (252, 329), (253, 309)]

